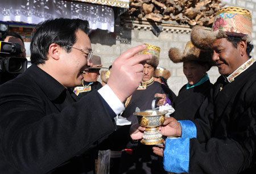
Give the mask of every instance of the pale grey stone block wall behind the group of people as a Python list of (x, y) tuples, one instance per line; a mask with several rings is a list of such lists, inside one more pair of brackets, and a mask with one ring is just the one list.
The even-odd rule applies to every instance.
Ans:
[[(255, 45), (256, 32), (256, 0), (225, 0), (226, 6), (244, 7), (251, 11), (253, 16), (253, 44)], [(92, 48), (94, 54), (101, 56), (104, 66), (112, 65), (115, 58), (125, 50), (143, 43), (156, 45), (161, 48), (159, 66), (165, 67), (171, 71), (171, 77), (168, 79), (168, 85), (177, 95), (180, 88), (187, 83), (187, 79), (183, 74), (183, 63), (173, 63), (168, 58), (168, 50), (171, 47), (177, 47), (184, 50), (185, 44), (190, 40), (191, 28), (164, 26), (158, 37), (152, 33), (150, 25), (139, 23), (124, 23), (120, 18), (115, 20), (115, 32), (108, 33), (106, 31), (96, 30), (90, 34)], [(255, 57), (255, 49), (251, 53)], [(208, 71), (210, 81), (216, 82), (218, 78), (217, 67), (212, 67)], [(100, 79), (99, 79), (100, 80)]]

